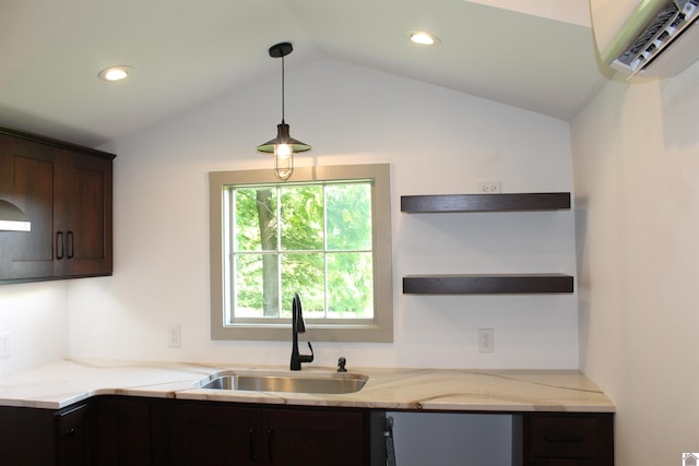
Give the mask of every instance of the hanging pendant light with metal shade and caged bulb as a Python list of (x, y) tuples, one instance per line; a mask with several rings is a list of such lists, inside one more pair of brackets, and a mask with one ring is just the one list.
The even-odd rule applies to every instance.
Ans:
[(258, 152), (274, 155), (274, 175), (281, 180), (287, 180), (294, 172), (294, 153), (310, 151), (310, 145), (289, 135), (289, 127), (284, 121), (284, 57), (293, 50), (289, 43), (270, 47), (270, 57), (282, 59), (282, 123), (276, 126), (276, 138), (258, 146)]

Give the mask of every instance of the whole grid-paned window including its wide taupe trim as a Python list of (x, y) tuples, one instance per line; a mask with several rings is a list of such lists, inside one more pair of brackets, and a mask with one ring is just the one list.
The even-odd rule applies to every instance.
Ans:
[(213, 339), (391, 342), (388, 165), (211, 172)]

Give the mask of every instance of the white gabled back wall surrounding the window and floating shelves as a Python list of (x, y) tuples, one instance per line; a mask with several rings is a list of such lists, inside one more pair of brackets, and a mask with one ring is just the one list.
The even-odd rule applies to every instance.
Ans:
[[(390, 163), (393, 344), (315, 345), (318, 366), (577, 368), (574, 295), (404, 296), (401, 278), (436, 272), (574, 273), (573, 212), (419, 216), (401, 194), (571, 191), (566, 122), (335, 61), (287, 70), (286, 120), (313, 146), (298, 165)], [(212, 342), (211, 170), (271, 168), (280, 76), (109, 144), (115, 152), (115, 274), (70, 286), (73, 357), (285, 365), (288, 342)], [(182, 346), (166, 344), (168, 324)], [(477, 353), (494, 327), (496, 353)]]

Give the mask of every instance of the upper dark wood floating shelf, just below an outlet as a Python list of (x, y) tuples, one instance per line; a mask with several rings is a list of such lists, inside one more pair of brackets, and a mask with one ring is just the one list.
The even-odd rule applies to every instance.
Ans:
[(569, 192), (402, 195), (401, 212), (517, 212), (570, 208)]

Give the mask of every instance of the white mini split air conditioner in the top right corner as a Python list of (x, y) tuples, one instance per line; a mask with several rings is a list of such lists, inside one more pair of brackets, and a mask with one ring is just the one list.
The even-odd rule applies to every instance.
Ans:
[(590, 0), (600, 60), (631, 77), (672, 76), (699, 59), (699, 0)]

